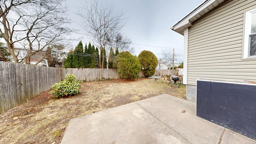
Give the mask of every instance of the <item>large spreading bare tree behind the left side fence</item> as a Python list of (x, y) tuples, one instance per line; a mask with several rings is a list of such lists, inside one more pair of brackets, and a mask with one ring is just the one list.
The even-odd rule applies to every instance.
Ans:
[[(62, 5), (63, 2), (64, 0), (0, 0), (0, 35), (14, 62), (24, 60), (26, 64), (30, 64), (30, 56), (33, 54), (46, 50), (51, 44), (63, 43), (63, 36), (72, 31), (63, 26), (70, 23), (65, 15), (67, 9)], [(22, 46), (27, 50), (27, 55), (18, 59), (14, 45)]]

